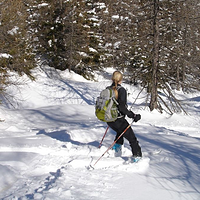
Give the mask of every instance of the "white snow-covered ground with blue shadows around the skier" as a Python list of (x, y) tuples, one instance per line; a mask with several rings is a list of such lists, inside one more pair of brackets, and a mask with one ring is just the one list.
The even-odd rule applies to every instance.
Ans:
[[(23, 84), (8, 88), (14, 108), (0, 107), (0, 199), (200, 199), (200, 93), (177, 92), (188, 115), (172, 116), (149, 112), (142, 93), (132, 107), (142, 119), (132, 128), (144, 158), (128, 163), (125, 140), (122, 157), (109, 150), (94, 166), (115, 137), (109, 129), (98, 148), (107, 125), (94, 104), (112, 71), (98, 82), (47, 66), (34, 70), (36, 82), (13, 76)], [(131, 107), (140, 90), (123, 86)]]

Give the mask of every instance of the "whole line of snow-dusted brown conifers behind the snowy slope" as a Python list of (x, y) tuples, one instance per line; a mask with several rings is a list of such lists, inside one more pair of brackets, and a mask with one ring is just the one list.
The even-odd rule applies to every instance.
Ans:
[[(8, 71), (37, 60), (93, 79), (107, 67), (148, 92), (150, 110), (182, 110), (173, 89), (200, 86), (198, 0), (4, 0), (0, 3), (0, 90)], [(168, 98), (168, 103), (163, 95)]]

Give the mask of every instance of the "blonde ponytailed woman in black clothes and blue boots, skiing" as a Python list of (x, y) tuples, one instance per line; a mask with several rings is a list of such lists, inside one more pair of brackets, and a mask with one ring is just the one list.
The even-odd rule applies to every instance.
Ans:
[[(111, 87), (115, 91), (116, 99), (119, 103), (118, 110), (119, 110), (119, 116), (117, 120), (114, 122), (108, 122), (108, 126), (113, 129), (117, 134), (115, 137), (115, 140), (120, 136), (120, 134), (129, 126), (128, 121), (125, 119), (125, 116), (127, 115), (129, 118), (132, 118), (135, 122), (141, 119), (140, 114), (134, 114), (132, 111), (127, 109), (127, 92), (124, 89), (124, 87), (121, 86), (123, 79), (123, 75), (119, 71), (115, 71), (112, 76), (112, 85)], [(129, 144), (132, 149), (133, 159), (138, 159), (142, 157), (141, 147), (138, 144), (138, 140), (130, 127), (122, 137), (120, 137), (115, 145), (113, 146), (113, 149), (115, 152), (121, 152), (121, 147), (124, 143), (124, 138), (126, 138), (129, 141)]]

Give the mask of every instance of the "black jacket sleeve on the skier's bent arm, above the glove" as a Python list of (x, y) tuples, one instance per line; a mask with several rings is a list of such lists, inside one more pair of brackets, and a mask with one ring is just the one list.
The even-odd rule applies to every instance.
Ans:
[(135, 114), (127, 109), (127, 92), (123, 87), (119, 88), (118, 90), (118, 103), (118, 109), (122, 115), (127, 115), (130, 118), (134, 118)]

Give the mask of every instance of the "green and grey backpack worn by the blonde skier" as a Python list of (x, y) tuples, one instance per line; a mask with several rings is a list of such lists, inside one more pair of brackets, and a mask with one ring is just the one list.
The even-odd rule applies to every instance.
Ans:
[(118, 118), (118, 102), (111, 87), (104, 89), (97, 97), (95, 114), (103, 122), (113, 122)]

